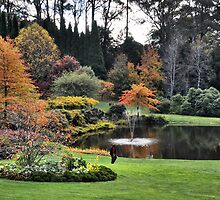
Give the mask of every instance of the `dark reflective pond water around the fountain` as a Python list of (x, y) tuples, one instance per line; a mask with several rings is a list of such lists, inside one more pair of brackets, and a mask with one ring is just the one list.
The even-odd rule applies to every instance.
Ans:
[(78, 146), (109, 150), (115, 143), (118, 156), (131, 158), (220, 160), (220, 127), (138, 125), (133, 141), (130, 137), (129, 128), (117, 128), (112, 134), (84, 137)]

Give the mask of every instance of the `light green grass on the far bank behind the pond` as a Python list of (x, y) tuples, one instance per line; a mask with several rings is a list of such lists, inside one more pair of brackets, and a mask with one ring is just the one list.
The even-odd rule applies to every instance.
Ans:
[[(110, 108), (108, 102), (100, 102), (95, 106), (105, 112)], [(134, 111), (136, 108), (130, 107), (128, 110)], [(164, 117), (170, 124), (178, 125), (204, 125), (204, 126), (220, 126), (220, 118), (215, 117), (199, 117), (199, 116), (187, 116), (187, 115), (174, 115), (174, 114), (152, 114), (149, 113), (148, 109), (142, 109), (141, 114), (143, 115), (153, 115)]]

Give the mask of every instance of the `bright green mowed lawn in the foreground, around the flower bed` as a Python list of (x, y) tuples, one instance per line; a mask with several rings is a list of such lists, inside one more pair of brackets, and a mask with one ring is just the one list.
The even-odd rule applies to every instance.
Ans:
[(208, 200), (220, 199), (220, 161), (118, 158), (83, 155), (118, 173), (116, 181), (36, 183), (0, 179), (1, 200)]

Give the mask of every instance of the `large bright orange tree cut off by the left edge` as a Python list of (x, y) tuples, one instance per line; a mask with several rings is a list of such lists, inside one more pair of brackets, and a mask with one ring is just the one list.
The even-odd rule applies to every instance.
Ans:
[(12, 41), (0, 37), (0, 111), (4, 113), (4, 123), (11, 105), (37, 97), (36, 88), (20, 57)]

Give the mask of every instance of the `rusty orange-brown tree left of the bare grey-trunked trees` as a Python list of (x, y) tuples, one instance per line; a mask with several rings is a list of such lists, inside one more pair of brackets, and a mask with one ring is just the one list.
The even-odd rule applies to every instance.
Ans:
[(152, 48), (148, 49), (141, 58), (141, 65), (128, 63), (129, 78), (133, 83), (143, 83), (146, 87), (154, 88), (162, 80), (161, 65), (158, 53)]

